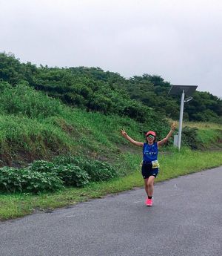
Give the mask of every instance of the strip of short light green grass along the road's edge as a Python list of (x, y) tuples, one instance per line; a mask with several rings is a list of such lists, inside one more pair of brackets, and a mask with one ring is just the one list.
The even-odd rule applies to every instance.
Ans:
[[(123, 166), (125, 172), (128, 169), (129, 174), (109, 182), (91, 183), (85, 188), (66, 188), (56, 193), (39, 195), (0, 194), (0, 220), (22, 217), (39, 210), (50, 211), (92, 198), (103, 197), (106, 194), (142, 187), (144, 180), (141, 177), (139, 166), (141, 156), (138, 154), (124, 154), (122, 157), (129, 160), (128, 165)], [(222, 157), (221, 151), (190, 151), (184, 149), (180, 152), (173, 150), (169, 154), (161, 154), (159, 162), (161, 168), (156, 182), (222, 165)]]

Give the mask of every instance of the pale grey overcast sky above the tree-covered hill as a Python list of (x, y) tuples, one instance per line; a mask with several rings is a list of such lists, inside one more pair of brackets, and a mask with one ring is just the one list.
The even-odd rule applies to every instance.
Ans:
[(0, 0), (0, 52), (222, 96), (221, 0)]

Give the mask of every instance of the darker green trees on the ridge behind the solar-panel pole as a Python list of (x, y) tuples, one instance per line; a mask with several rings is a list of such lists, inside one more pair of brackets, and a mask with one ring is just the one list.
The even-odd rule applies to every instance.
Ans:
[[(161, 76), (133, 76), (125, 85), (132, 99), (137, 99), (172, 119), (178, 119), (181, 98), (168, 95), (171, 85)], [(221, 99), (200, 91), (195, 91), (192, 97), (192, 101), (184, 104), (184, 119), (222, 123)]]

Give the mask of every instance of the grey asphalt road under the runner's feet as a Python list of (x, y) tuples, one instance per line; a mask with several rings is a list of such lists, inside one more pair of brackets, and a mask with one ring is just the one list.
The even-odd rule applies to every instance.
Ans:
[(0, 223), (1, 256), (221, 256), (222, 167)]

